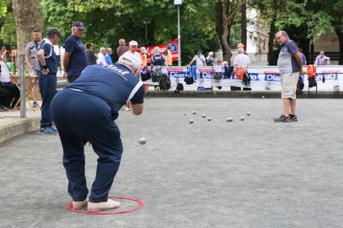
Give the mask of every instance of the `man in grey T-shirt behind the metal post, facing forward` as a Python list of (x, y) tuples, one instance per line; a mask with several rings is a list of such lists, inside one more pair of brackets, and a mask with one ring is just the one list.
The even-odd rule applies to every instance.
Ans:
[[(29, 69), (34, 69), (35, 75), (38, 76), (39, 73), (39, 62), (36, 58), (37, 49), (40, 43), (42, 43), (42, 32), (40, 29), (33, 29), (32, 30), (33, 41), (29, 42), (25, 47), (25, 62)], [(38, 95), (39, 84), (36, 83), (32, 90), (33, 96), (37, 98)], [(32, 105), (34, 108), (38, 107), (36, 102), (33, 102)]]

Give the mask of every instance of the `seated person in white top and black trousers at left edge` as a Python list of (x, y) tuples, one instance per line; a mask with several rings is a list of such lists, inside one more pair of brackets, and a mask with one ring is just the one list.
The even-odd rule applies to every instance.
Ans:
[(12, 73), (8, 71), (7, 64), (3, 61), (0, 61), (0, 81), (2, 82), (1, 87), (2, 89), (5, 89), (9, 92), (9, 95), (5, 93), (6, 102), (4, 103), (4, 107), (7, 110), (13, 109), (13, 107), (20, 98), (20, 90), (18, 89), (18, 87), (14, 85), (13, 81), (9, 78), (11, 74)]

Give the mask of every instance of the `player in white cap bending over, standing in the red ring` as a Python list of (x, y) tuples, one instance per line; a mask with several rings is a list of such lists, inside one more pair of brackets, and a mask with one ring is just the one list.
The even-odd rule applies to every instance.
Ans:
[[(88, 205), (88, 212), (98, 212), (121, 205), (108, 198), (123, 152), (114, 120), (125, 104), (132, 114), (143, 113), (144, 87), (137, 78), (140, 62), (140, 57), (126, 52), (117, 63), (90, 65), (52, 101), (52, 118), (59, 130), (68, 192), (75, 209)], [(84, 153), (87, 141), (99, 157), (89, 202)]]

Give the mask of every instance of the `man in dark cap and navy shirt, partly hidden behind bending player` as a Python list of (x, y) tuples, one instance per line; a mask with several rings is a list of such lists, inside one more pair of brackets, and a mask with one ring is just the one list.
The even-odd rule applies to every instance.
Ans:
[(84, 30), (82, 22), (75, 22), (72, 27), (72, 35), (67, 38), (64, 45), (66, 50), (63, 58), (64, 77), (67, 76), (69, 82), (77, 79), (88, 65), (86, 49), (80, 40), (84, 35)]

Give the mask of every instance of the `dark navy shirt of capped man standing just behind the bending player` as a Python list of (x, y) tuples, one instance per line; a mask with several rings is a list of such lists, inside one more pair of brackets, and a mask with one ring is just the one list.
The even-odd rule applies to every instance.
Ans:
[(66, 52), (71, 52), (68, 77), (79, 75), (88, 65), (88, 57), (86, 48), (81, 40), (73, 35), (70, 35), (64, 45)]

